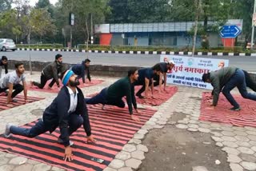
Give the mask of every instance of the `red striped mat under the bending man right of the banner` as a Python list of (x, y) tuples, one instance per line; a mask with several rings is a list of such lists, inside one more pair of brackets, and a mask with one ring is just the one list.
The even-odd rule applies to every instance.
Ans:
[(256, 101), (243, 98), (240, 94), (233, 95), (234, 99), (241, 107), (240, 111), (231, 111), (230, 102), (226, 97), (219, 96), (218, 105), (215, 109), (210, 108), (212, 99), (210, 93), (202, 93), (201, 114), (199, 120), (221, 122), (236, 126), (256, 127)]

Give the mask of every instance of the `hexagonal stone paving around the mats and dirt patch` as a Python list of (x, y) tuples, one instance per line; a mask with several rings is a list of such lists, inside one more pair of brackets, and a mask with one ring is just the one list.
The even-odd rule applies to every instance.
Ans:
[[(27, 75), (27, 80), (32, 79), (38, 80), (39, 74)], [(85, 88), (83, 93), (85, 95), (96, 93), (116, 80), (116, 78), (101, 79), (104, 79), (105, 82)], [(202, 91), (202, 89), (178, 87), (178, 93), (170, 100), (161, 106), (154, 107), (158, 109), (158, 112), (154, 114), (150, 121), (146, 122), (146, 125), (142, 126), (138, 133), (134, 134), (134, 137), (116, 155), (105, 171), (132, 171), (133, 169), (138, 169), (142, 160), (145, 159), (144, 153), (148, 152), (147, 147), (142, 145), (145, 135), (154, 131), (154, 129), (162, 129), (166, 124), (176, 125), (177, 128), (184, 129), (184, 131), (210, 133), (212, 139), (216, 141), (216, 145), (227, 153), (226, 160), (230, 162), (230, 169), (233, 171), (256, 170), (256, 128), (242, 128), (208, 121), (198, 121)], [(4, 132), (6, 123), (24, 125), (38, 119), (41, 117), (41, 113), (38, 113), (38, 111), (45, 109), (56, 96), (54, 93), (35, 91), (30, 91), (29, 95), (46, 97), (46, 99), (0, 112), (0, 120), (2, 121), (0, 123), (0, 133)], [(139, 107), (144, 106), (139, 105)], [(170, 122), (169, 118), (174, 113), (182, 113), (186, 118), (177, 123)], [(25, 157), (0, 152), (0, 170), (57, 171), (63, 169), (32, 161)]]

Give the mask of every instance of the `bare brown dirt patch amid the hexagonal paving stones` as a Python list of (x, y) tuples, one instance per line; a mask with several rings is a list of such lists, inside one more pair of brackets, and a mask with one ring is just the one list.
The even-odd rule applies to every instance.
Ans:
[[(184, 114), (175, 114), (171, 121), (177, 121)], [(230, 171), (226, 153), (215, 146), (210, 133), (189, 132), (175, 125), (154, 129), (147, 134), (143, 145), (149, 148), (140, 171), (191, 171), (194, 166), (204, 166), (209, 171)], [(221, 161), (215, 165), (215, 161)]]

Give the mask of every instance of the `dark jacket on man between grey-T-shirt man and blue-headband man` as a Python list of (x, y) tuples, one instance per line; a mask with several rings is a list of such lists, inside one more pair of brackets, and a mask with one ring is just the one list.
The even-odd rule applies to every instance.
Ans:
[(58, 64), (56, 61), (48, 64), (43, 70), (43, 74), (47, 79), (54, 78), (57, 85), (59, 85), (58, 82), (58, 74), (63, 72), (63, 66), (62, 64)]

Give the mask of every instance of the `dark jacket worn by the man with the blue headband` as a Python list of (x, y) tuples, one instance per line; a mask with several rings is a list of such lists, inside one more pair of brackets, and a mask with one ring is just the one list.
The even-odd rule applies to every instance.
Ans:
[[(90, 136), (90, 121), (88, 117), (88, 111), (86, 107), (86, 103), (84, 101), (84, 96), (82, 90), (78, 89), (78, 105), (77, 109), (74, 113), (70, 114), (78, 114), (83, 118), (83, 127), (86, 131), (87, 136)], [(49, 128), (50, 133), (52, 133), (57, 127), (59, 127), (62, 140), (64, 141), (64, 145), (70, 145), (70, 135), (69, 135), (69, 113), (70, 109), (70, 93), (66, 86), (63, 86), (58, 96), (54, 99), (54, 101), (46, 108), (42, 115), (42, 120), (46, 124), (46, 127)]]

